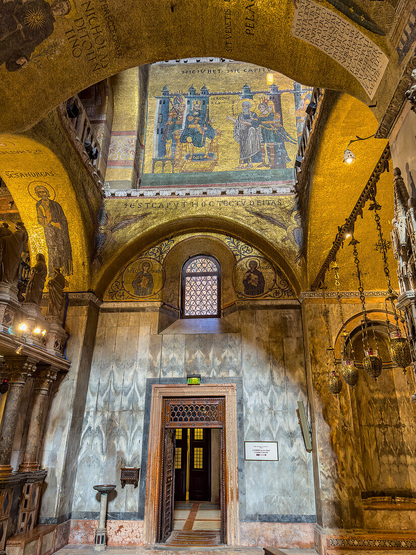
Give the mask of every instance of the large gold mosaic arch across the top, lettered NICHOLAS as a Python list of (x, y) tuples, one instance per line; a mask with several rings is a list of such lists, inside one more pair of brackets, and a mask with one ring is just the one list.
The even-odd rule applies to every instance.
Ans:
[[(357, 2), (367, 7), (368, 2)], [(217, 56), (244, 60), (306, 85), (342, 90), (367, 103), (377, 101), (378, 116), (401, 73), (390, 42), (397, 22), (394, 8), (386, 1), (367, 7), (385, 36), (354, 27), (348, 20), (351, 29), (359, 29), (364, 40), (369, 38), (381, 49), (381, 56), (387, 56), (387, 69), (372, 102), (363, 83), (324, 53), (331, 48), (331, 41), (322, 51), (292, 34), (295, 8), (291, 0), (64, 0), (60, 8), (38, 3), (37, 12), (24, 19), (28, 36), (16, 38), (18, 28), (9, 29), (2, 43), (3, 132), (31, 127), (72, 94), (120, 70), (164, 59)], [(12, 4), (13, 0), (1, 4), (1, 11), (6, 13)], [(313, 5), (341, 15), (324, 0)], [(323, 37), (326, 34), (321, 33)], [(41, 36), (47, 38), (41, 41)], [(368, 83), (371, 85), (371, 78)]]

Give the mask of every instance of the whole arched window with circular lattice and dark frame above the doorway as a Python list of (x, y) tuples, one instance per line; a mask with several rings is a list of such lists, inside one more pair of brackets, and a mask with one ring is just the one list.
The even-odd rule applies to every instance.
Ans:
[(182, 318), (220, 317), (221, 268), (212, 256), (192, 256), (182, 268)]

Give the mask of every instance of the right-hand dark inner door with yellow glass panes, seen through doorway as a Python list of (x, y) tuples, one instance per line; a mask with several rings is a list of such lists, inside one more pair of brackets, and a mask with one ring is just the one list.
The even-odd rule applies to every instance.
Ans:
[(211, 501), (210, 428), (191, 428), (190, 430), (189, 500)]

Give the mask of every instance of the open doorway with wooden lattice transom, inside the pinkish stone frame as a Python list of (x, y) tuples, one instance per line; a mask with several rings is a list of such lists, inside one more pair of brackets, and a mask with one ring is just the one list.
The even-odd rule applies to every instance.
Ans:
[(223, 416), (222, 398), (165, 400), (160, 542), (226, 541)]

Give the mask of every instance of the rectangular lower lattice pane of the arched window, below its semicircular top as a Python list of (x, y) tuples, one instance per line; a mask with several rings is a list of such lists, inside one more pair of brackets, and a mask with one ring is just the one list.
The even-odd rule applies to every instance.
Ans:
[(185, 276), (185, 316), (212, 316), (218, 312), (218, 276)]

